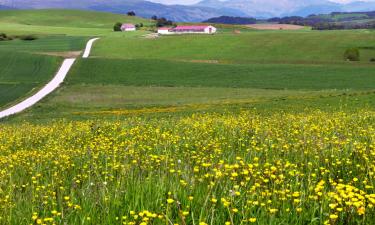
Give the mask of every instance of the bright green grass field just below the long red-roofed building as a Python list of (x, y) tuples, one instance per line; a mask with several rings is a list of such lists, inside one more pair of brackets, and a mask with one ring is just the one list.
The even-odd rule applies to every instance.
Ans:
[[(361, 31), (253, 31), (240, 35), (170, 36), (158, 39), (108, 37), (93, 56), (123, 59), (221, 60), (236, 63), (342, 63), (347, 48), (373, 46)], [(113, 45), (116, 43), (116, 45)], [(152, 49), (152, 51), (151, 51)], [(374, 51), (363, 51), (368, 62)]]

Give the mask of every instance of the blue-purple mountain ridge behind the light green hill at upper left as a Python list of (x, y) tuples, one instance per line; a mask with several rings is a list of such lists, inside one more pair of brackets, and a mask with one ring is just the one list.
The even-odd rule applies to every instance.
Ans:
[(113, 13), (135, 11), (137, 15), (167, 17), (173, 21), (199, 22), (221, 15), (246, 16), (236, 9), (214, 9), (198, 6), (163, 5), (144, 0), (0, 0), (0, 5), (12, 4), (19, 9), (89, 9)]

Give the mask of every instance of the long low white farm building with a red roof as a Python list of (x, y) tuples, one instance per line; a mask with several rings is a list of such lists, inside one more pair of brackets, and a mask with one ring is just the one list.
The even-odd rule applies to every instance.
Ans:
[(161, 27), (158, 29), (159, 34), (214, 34), (216, 31), (216, 27), (211, 25)]

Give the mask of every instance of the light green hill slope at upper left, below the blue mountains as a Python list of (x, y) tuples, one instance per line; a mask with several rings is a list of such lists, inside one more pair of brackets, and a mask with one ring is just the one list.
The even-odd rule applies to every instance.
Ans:
[(11, 34), (66, 34), (103, 36), (112, 34), (115, 22), (150, 24), (147, 19), (81, 10), (0, 11), (2, 32)]

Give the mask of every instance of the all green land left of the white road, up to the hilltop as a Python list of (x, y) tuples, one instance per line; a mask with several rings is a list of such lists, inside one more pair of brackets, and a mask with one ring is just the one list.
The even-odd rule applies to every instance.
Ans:
[(138, 17), (78, 10), (1, 11), (0, 33), (37, 39), (0, 41), (0, 108), (36, 92), (55, 75), (64, 57), (80, 54), (90, 37), (112, 34), (117, 21), (148, 23)]

